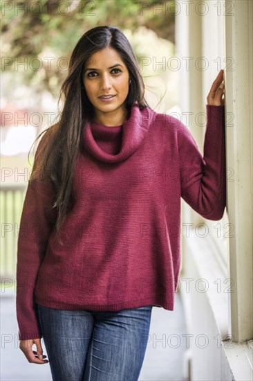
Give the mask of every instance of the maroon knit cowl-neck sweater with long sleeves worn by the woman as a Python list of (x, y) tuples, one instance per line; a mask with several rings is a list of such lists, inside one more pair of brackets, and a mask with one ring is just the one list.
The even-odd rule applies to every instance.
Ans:
[(36, 303), (174, 309), (180, 197), (209, 220), (225, 210), (225, 110), (206, 109), (203, 157), (183, 123), (137, 103), (122, 125), (84, 124), (62, 245), (49, 218), (52, 184), (29, 181), (17, 249), (19, 339), (42, 337)]

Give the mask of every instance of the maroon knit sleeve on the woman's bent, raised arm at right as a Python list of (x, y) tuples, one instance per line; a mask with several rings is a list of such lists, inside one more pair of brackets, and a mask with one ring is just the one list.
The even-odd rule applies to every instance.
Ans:
[(207, 220), (221, 220), (226, 205), (225, 107), (206, 109), (203, 157), (187, 127), (179, 126), (181, 196)]

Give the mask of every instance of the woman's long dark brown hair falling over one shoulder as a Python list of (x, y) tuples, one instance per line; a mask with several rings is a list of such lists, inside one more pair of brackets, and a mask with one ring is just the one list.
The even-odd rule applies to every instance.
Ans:
[(57, 215), (55, 233), (59, 232), (66, 214), (73, 205), (73, 174), (77, 154), (82, 149), (82, 132), (86, 126), (84, 118), (90, 121), (94, 116), (93, 105), (88, 100), (83, 85), (84, 67), (93, 53), (106, 47), (114, 48), (129, 70), (131, 86), (125, 100), (128, 113), (131, 112), (135, 101), (140, 109), (149, 107), (144, 98), (144, 82), (138, 62), (124, 33), (115, 26), (97, 26), (84, 33), (73, 50), (68, 65), (68, 76), (60, 89), (59, 100), (64, 95), (64, 103), (59, 121), (37, 136), (39, 139), (41, 134), (45, 133), (39, 142), (30, 175), (30, 180), (49, 180), (53, 184), (55, 200), (52, 208)]

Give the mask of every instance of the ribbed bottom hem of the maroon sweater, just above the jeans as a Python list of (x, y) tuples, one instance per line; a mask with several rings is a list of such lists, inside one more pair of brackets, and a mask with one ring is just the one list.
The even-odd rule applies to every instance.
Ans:
[(122, 301), (114, 304), (71, 304), (59, 301), (47, 301), (45, 299), (36, 299), (36, 303), (44, 307), (55, 308), (56, 310), (93, 310), (93, 311), (118, 311), (127, 308), (144, 307), (144, 305), (154, 305), (165, 308), (165, 310), (174, 310), (174, 303), (166, 303), (153, 298), (137, 299), (134, 301)]

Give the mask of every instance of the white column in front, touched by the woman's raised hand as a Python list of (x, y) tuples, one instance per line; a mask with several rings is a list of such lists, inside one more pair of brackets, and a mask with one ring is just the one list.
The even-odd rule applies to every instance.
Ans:
[[(252, 46), (253, 3), (225, 1), (225, 72), (227, 118), (227, 182), (229, 222), (229, 271), (234, 281), (231, 301), (232, 340), (253, 337), (252, 327)], [(228, 114), (230, 113), (230, 114)], [(229, 125), (230, 124), (230, 125)]]

